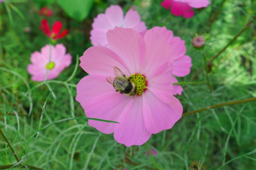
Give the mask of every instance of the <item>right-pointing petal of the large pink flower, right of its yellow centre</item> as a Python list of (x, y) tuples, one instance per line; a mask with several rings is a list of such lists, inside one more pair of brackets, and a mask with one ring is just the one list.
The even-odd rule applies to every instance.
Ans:
[[(155, 74), (147, 77), (147, 91), (152, 92), (159, 100), (170, 103), (174, 88), (172, 87), (172, 63), (165, 63), (155, 70)], [(143, 95), (144, 95), (143, 94)]]

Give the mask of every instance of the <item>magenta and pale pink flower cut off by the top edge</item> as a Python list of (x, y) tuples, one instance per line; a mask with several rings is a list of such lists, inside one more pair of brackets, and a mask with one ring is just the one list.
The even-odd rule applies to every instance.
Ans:
[(194, 15), (192, 8), (207, 7), (209, 4), (209, 0), (164, 0), (161, 6), (167, 10), (171, 7), (171, 13), (175, 16), (182, 15), (184, 18), (192, 18)]

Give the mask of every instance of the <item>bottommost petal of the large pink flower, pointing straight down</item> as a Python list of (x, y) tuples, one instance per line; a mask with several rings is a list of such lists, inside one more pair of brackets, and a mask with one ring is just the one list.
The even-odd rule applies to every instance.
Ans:
[(114, 138), (127, 147), (142, 145), (151, 136), (143, 121), (142, 96), (135, 96), (129, 101), (120, 114), (118, 122), (120, 124), (115, 125)]

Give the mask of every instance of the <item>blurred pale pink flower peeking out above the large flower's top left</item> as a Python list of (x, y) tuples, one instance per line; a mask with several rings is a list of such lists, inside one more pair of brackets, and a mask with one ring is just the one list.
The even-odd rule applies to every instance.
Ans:
[(92, 31), (90, 31), (90, 40), (93, 45), (106, 46), (109, 48), (106, 32), (114, 27), (133, 28), (138, 32), (147, 29), (144, 22), (141, 21), (137, 11), (129, 10), (123, 16), (123, 10), (118, 5), (112, 5), (106, 8), (105, 14), (98, 14), (94, 18)]

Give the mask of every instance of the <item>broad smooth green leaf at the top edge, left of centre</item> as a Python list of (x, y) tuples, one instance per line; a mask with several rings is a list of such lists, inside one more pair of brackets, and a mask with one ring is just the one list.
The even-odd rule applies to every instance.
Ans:
[(57, 0), (67, 14), (78, 21), (85, 19), (93, 5), (94, 0)]

